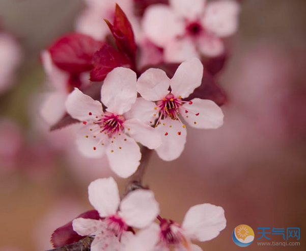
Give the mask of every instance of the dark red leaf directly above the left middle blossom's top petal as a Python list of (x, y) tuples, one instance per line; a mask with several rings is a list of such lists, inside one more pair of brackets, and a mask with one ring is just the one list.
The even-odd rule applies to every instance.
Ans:
[(90, 80), (102, 81), (109, 71), (119, 66), (130, 68), (130, 60), (112, 46), (105, 44), (93, 56), (93, 69), (90, 72)]

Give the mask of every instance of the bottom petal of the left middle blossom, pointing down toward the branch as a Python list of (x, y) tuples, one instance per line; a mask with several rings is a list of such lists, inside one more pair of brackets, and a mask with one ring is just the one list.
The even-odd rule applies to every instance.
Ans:
[(113, 143), (108, 145), (106, 155), (110, 168), (121, 178), (132, 175), (142, 157), (136, 141), (124, 134), (118, 135)]

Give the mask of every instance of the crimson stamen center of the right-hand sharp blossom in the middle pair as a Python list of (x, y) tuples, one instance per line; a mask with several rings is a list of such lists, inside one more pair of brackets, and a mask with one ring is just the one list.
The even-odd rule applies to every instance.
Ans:
[[(157, 108), (160, 112), (160, 119), (170, 117), (179, 120), (180, 106), (183, 105), (181, 98), (176, 98), (172, 93), (167, 94), (161, 101), (157, 102)], [(158, 120), (160, 120), (158, 119)]]

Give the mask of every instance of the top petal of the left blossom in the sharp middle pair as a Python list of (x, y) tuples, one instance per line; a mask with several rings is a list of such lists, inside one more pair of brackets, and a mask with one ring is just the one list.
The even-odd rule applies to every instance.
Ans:
[(136, 73), (117, 67), (110, 71), (101, 88), (101, 101), (107, 111), (123, 114), (129, 111), (137, 97)]

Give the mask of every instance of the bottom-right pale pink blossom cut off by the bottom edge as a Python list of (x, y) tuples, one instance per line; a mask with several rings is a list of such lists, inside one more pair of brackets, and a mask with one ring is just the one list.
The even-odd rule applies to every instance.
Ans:
[(201, 251), (191, 240), (208, 241), (217, 237), (226, 227), (224, 209), (211, 204), (191, 207), (185, 215), (182, 225), (160, 219), (160, 224), (139, 231), (126, 244), (124, 251)]

